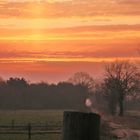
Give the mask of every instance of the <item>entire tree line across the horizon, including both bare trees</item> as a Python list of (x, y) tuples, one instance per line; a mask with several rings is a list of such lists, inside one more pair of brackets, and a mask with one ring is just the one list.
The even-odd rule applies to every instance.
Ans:
[(139, 68), (127, 61), (115, 61), (105, 66), (100, 82), (86, 72), (77, 72), (58, 84), (29, 83), (24, 78), (1, 79), (0, 109), (90, 108), (123, 116), (126, 102), (140, 101), (139, 93)]

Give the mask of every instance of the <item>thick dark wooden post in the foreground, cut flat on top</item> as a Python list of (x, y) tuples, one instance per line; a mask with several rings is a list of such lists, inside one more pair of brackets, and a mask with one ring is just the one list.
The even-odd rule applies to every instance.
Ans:
[(94, 113), (64, 112), (63, 140), (99, 140), (100, 116)]

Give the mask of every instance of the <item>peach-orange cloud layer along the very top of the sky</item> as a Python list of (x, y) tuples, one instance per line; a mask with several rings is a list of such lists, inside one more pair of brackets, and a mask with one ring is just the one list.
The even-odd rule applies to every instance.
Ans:
[[(128, 5), (129, 4), (129, 5)], [(132, 5), (130, 5), (132, 4)], [(140, 15), (139, 0), (2, 1), (1, 17), (59, 18)]]

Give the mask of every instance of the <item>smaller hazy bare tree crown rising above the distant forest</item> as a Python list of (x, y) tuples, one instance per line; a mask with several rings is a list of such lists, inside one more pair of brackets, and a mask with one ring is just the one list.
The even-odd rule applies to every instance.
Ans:
[(77, 72), (68, 81), (74, 85), (79, 84), (85, 86), (89, 92), (91, 92), (95, 86), (93, 78), (86, 72)]

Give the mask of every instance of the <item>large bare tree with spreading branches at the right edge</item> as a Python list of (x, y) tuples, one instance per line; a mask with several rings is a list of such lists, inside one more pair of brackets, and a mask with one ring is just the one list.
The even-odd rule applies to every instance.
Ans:
[[(105, 72), (105, 87), (112, 103), (118, 104), (119, 115), (123, 116), (126, 96), (133, 96), (137, 92), (140, 81), (139, 70), (130, 62), (116, 61), (107, 65)], [(114, 106), (113, 104), (112, 106)]]

